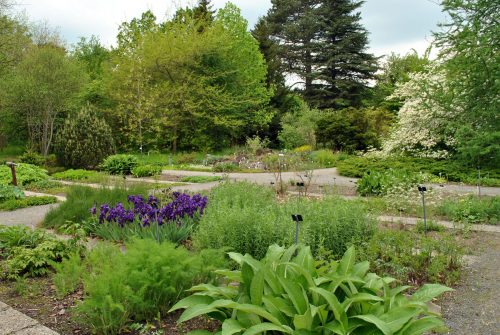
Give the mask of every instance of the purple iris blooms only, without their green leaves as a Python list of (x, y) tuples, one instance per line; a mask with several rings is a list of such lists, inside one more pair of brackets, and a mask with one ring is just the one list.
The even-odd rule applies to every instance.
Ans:
[[(151, 223), (157, 223), (160, 226), (166, 222), (180, 223), (182, 218), (193, 218), (196, 214), (202, 215), (208, 201), (207, 197), (202, 197), (200, 194), (191, 197), (179, 192), (174, 192), (172, 201), (163, 207), (160, 207), (158, 199), (151, 195), (147, 200), (140, 195), (129, 195), (127, 200), (133, 205), (133, 209), (125, 209), (122, 203), (118, 203), (115, 207), (110, 207), (108, 204), (101, 205), (99, 223), (115, 222), (120, 227), (136, 219), (144, 227)], [(90, 212), (96, 214), (95, 205)]]

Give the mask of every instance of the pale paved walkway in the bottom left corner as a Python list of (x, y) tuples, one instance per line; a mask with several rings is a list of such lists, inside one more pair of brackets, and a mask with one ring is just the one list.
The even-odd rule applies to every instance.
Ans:
[(58, 335), (0, 301), (0, 335)]

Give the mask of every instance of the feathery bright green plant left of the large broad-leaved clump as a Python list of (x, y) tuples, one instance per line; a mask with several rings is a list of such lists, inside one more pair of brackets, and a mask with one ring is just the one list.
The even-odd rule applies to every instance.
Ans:
[(210, 281), (213, 270), (225, 264), (218, 251), (190, 253), (149, 239), (125, 247), (127, 252), (121, 253), (117, 246), (98, 246), (86, 261), (86, 295), (77, 314), (97, 334), (117, 334), (129, 320), (143, 321), (166, 312), (186, 289)]

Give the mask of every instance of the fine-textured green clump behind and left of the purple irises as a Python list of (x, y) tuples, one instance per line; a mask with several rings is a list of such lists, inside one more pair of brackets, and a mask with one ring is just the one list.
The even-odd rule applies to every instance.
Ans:
[(45, 216), (43, 225), (47, 228), (58, 229), (67, 222), (81, 223), (91, 216), (90, 208), (94, 204), (107, 203), (110, 206), (123, 202), (129, 194), (147, 194), (146, 186), (133, 186), (128, 189), (115, 187), (91, 188), (73, 186), (66, 194), (66, 201), (57, 208), (52, 209)]

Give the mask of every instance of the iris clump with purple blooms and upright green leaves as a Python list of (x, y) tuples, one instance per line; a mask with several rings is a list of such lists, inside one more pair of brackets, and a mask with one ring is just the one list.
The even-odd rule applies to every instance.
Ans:
[(158, 242), (181, 243), (186, 240), (207, 205), (207, 197), (174, 192), (168, 200), (150, 195), (129, 195), (128, 206), (101, 204), (91, 209), (95, 216), (84, 221), (91, 234), (112, 241), (133, 237), (151, 238)]

